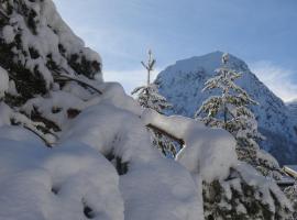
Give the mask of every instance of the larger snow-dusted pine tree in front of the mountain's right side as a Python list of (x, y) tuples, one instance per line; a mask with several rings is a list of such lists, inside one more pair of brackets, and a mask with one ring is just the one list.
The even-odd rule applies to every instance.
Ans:
[(228, 54), (223, 54), (222, 66), (216, 73), (213, 78), (207, 80), (204, 91), (218, 89), (221, 96), (208, 98), (195, 118), (204, 121), (206, 125), (229, 131), (237, 140), (239, 160), (253, 165), (264, 176), (279, 179), (282, 170), (278, 163), (268, 153), (260, 150), (257, 144), (257, 141), (265, 138), (257, 131), (257, 121), (249, 109), (249, 106), (257, 102), (235, 85), (234, 81), (241, 74), (230, 69)]

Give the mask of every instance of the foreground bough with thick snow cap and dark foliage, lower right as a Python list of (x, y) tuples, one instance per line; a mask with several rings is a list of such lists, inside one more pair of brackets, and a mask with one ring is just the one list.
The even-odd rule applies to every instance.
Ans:
[(184, 141), (186, 147), (176, 161), (197, 183), (206, 220), (293, 220), (290, 202), (283, 191), (251, 165), (238, 161), (237, 142), (228, 132), (206, 133), (207, 128), (200, 121), (176, 116), (166, 118), (150, 110), (143, 118), (146, 124)]

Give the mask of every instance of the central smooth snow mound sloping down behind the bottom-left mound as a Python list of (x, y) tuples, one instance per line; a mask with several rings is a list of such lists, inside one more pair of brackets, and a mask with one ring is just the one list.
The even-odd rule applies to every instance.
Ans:
[(81, 112), (66, 130), (62, 142), (80, 141), (128, 163), (128, 174), (120, 177), (127, 219), (202, 219), (191, 176), (151, 146), (142, 120), (131, 111), (100, 103)]

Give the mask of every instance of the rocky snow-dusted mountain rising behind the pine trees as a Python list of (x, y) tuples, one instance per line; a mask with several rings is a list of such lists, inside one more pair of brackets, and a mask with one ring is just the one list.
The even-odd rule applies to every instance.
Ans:
[[(160, 86), (160, 92), (174, 105), (169, 114), (194, 117), (202, 101), (216, 94), (201, 90), (206, 80), (221, 65), (221, 52), (215, 52), (178, 61), (160, 73), (155, 82)], [(244, 62), (231, 55), (230, 66), (243, 74), (238, 85), (260, 103), (252, 110), (260, 131), (266, 136), (261, 145), (283, 164), (297, 163), (297, 124), (293, 122), (286, 105), (257, 79)]]

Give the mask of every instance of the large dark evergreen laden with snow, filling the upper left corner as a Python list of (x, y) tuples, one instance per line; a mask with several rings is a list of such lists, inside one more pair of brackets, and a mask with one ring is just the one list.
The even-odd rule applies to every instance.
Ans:
[[(57, 103), (53, 95), (74, 82), (94, 92), (89, 81), (100, 77), (99, 55), (85, 47), (51, 0), (1, 1), (0, 102), (9, 112), (7, 123), (26, 128), (52, 145), (63, 119), (57, 116), (79, 111), (65, 100)], [(51, 112), (44, 112), (41, 99)]]

